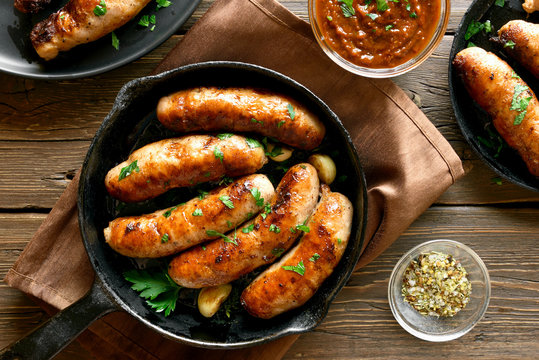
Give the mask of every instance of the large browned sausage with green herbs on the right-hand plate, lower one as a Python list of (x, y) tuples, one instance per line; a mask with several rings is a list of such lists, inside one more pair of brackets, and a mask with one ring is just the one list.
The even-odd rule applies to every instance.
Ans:
[(496, 130), (539, 176), (539, 103), (533, 91), (505, 61), (478, 47), (460, 51), (453, 66)]

